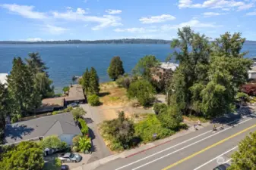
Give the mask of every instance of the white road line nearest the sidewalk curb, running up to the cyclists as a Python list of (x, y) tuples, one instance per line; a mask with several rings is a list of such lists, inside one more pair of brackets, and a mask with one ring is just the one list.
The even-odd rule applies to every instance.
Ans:
[[(243, 116), (242, 118), (245, 118), (245, 116)], [(250, 119), (252, 119), (252, 118), (250, 118)], [(250, 119), (248, 119), (248, 120), (250, 120)], [(232, 122), (235, 122), (235, 121), (237, 121), (237, 119), (233, 120)], [(227, 125), (231, 124), (232, 122), (229, 122)], [(217, 127), (217, 128), (221, 128), (221, 127)], [(172, 146), (172, 147), (168, 147), (168, 148), (166, 148), (166, 149), (164, 149), (164, 150), (161, 150), (160, 152), (153, 153), (152, 155), (147, 156), (147, 157), (144, 157), (144, 158), (142, 158), (142, 159), (138, 159), (137, 161), (134, 161), (134, 162), (131, 162), (131, 163), (129, 163), (129, 164), (127, 164), (127, 165), (124, 165), (124, 166), (122, 166), (122, 167), (116, 168), (115, 170), (119, 170), (119, 169), (125, 168), (125, 167), (127, 167), (127, 166), (129, 166), (129, 165), (133, 165), (134, 163), (141, 162), (141, 161), (143, 161), (144, 159), (150, 158), (150, 157), (155, 156), (155, 155), (157, 155), (157, 154), (159, 154), (159, 153), (163, 153), (163, 152), (165, 152), (166, 150), (172, 149), (173, 147), (178, 147), (178, 146), (181, 145), (181, 144), (185, 144), (185, 143), (187, 143), (188, 141), (191, 141), (191, 140), (193, 140), (193, 139), (195, 139), (195, 138), (201, 137), (202, 135), (207, 134), (207, 133), (210, 133), (210, 132), (212, 132), (212, 131), (213, 131), (213, 130), (206, 131), (206, 132), (204, 132), (203, 134), (199, 134), (198, 136), (195, 136), (195, 137), (193, 137), (193, 138), (188, 139), (187, 141), (183, 141), (183, 142), (181, 142), (181, 143), (179, 143), (179, 144), (175, 144), (175, 145)]]

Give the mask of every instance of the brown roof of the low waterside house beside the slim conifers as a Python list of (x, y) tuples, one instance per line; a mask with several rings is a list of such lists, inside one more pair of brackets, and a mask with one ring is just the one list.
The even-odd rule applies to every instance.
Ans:
[(71, 100), (85, 100), (84, 90), (81, 85), (72, 85), (68, 91), (68, 97), (65, 97), (66, 101)]

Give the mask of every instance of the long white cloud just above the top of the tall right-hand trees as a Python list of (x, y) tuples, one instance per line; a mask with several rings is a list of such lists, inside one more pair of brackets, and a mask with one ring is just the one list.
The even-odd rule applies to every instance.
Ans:
[(161, 26), (161, 29), (163, 31), (168, 31), (171, 29), (179, 29), (182, 28), (184, 26), (190, 26), (191, 28), (216, 28), (216, 27), (220, 27), (218, 25), (216, 25), (216, 23), (201, 23), (199, 20), (190, 20), (188, 22), (185, 23), (179, 23), (178, 25), (163, 25)]

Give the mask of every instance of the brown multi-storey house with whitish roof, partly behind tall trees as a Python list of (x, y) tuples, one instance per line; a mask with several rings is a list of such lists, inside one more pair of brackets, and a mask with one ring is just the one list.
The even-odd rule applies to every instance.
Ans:
[(178, 66), (178, 63), (160, 63), (159, 66), (156, 66), (156, 68), (153, 69), (153, 79), (160, 82), (160, 80), (169, 76), (169, 73), (173, 73)]

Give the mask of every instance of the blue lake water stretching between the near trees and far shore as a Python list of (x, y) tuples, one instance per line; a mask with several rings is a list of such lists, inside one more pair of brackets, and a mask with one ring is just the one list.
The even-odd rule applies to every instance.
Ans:
[[(256, 43), (245, 44), (243, 51), (249, 51), (246, 57), (256, 56)], [(81, 76), (87, 67), (94, 66), (100, 82), (109, 80), (106, 70), (112, 57), (122, 58), (125, 72), (130, 73), (137, 61), (147, 54), (155, 55), (159, 60), (172, 53), (169, 45), (0, 45), (0, 73), (11, 71), (13, 57), (27, 57), (30, 52), (39, 52), (49, 75), (55, 85), (55, 91), (61, 91), (70, 85), (72, 76)]]

